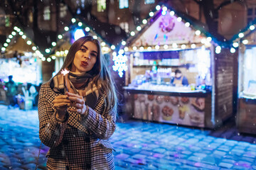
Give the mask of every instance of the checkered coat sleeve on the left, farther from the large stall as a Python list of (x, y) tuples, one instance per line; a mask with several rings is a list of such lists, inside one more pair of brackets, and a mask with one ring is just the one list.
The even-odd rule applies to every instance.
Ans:
[(63, 139), (63, 134), (68, 124), (68, 118), (66, 118), (66, 121), (63, 123), (60, 123), (56, 120), (55, 108), (53, 108), (49, 98), (46, 98), (46, 95), (49, 93), (49, 91), (50, 86), (48, 84), (43, 84), (39, 92), (39, 137), (44, 145), (48, 147), (57, 147), (60, 145), (60, 142)]

